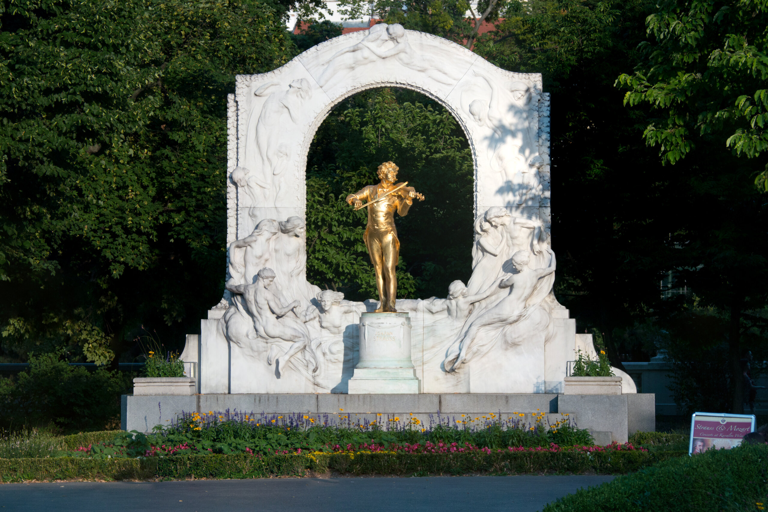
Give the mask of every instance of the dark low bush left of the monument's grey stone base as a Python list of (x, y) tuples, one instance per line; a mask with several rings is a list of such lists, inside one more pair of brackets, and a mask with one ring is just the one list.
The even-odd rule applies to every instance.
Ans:
[(0, 378), (0, 418), (5, 427), (46, 426), (65, 430), (103, 430), (120, 419), (120, 395), (131, 389), (132, 375), (71, 366), (58, 354), (29, 359), (15, 378)]

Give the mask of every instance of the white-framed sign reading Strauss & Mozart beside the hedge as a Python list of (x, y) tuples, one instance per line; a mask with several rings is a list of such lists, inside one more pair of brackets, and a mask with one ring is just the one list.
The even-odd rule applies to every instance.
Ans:
[(690, 418), (688, 454), (700, 454), (712, 448), (730, 450), (739, 446), (746, 434), (754, 431), (754, 415), (694, 412)]

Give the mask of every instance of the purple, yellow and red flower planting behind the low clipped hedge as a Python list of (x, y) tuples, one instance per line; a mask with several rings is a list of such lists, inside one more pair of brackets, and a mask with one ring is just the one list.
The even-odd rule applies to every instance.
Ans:
[[(495, 415), (493, 415), (495, 416)], [(544, 424), (543, 416), (523, 423), (520, 418), (498, 420), (486, 415), (452, 421), (439, 418), (439, 423), (422, 425), (411, 418), (406, 424), (394, 418), (373, 423), (362, 421), (353, 424), (349, 418), (341, 424), (333, 424), (326, 416), (320, 424), (309, 415), (260, 415), (250, 417), (243, 413), (218, 413), (199, 415), (193, 413), (179, 418), (170, 426), (155, 427), (154, 434), (136, 431), (120, 431), (114, 438), (98, 444), (82, 444), (82, 457), (137, 457), (144, 454), (171, 455), (177, 451), (206, 452), (217, 454), (273, 454), (276, 452), (326, 452), (339, 451), (339, 447), (359, 447), (376, 444), (383, 448), (394, 445), (472, 444), (493, 450), (508, 447), (549, 448), (552, 443), (562, 446), (587, 446), (593, 444), (588, 431), (576, 428), (564, 415), (555, 424)], [(399, 418), (397, 418), (399, 420)], [(71, 444), (69, 444), (71, 445)], [(164, 447), (164, 448), (158, 448)], [(78, 447), (81, 448), (81, 447)], [(77, 448), (75, 448), (77, 449)]]

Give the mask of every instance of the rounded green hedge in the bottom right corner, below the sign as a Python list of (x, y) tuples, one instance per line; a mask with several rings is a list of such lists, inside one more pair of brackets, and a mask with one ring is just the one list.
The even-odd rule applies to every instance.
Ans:
[[(563, 497), (545, 512), (762, 510), (768, 447), (751, 445), (677, 457)], [(761, 506), (763, 506), (761, 505)]]

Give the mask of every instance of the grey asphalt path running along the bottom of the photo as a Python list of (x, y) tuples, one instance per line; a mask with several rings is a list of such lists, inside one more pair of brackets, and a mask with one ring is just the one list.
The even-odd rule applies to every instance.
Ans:
[(170, 482), (0, 484), (0, 512), (533, 512), (551, 501), (611, 481), (610, 476), (270, 478)]

